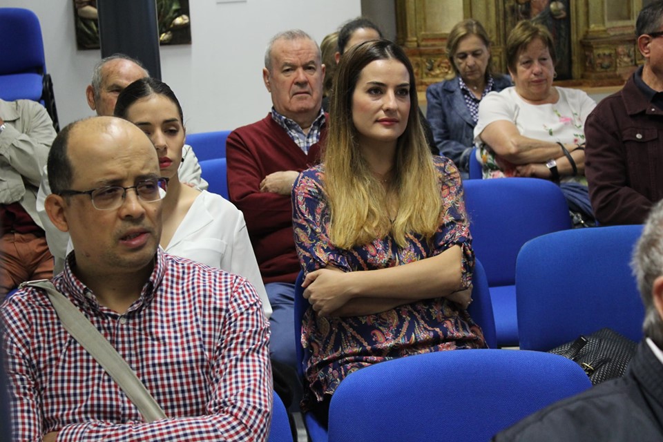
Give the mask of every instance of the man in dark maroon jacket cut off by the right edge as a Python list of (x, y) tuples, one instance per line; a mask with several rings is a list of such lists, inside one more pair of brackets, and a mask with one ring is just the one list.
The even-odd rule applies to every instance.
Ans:
[(644, 66), (585, 122), (585, 175), (599, 223), (642, 224), (663, 199), (663, 1), (635, 23)]

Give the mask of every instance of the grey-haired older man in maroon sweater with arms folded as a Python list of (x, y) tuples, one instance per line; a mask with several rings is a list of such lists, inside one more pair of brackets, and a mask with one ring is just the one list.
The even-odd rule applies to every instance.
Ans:
[(228, 190), (244, 213), (273, 309), (271, 357), (294, 367), (294, 282), (300, 265), (290, 191), (297, 175), (320, 160), (327, 134), (318, 44), (301, 30), (280, 32), (269, 42), (262, 77), (273, 107), (264, 119), (229, 135)]

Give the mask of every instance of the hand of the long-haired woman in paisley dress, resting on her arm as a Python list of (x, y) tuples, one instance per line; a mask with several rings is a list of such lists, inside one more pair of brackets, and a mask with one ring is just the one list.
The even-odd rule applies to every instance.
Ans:
[(345, 276), (338, 269), (318, 269), (307, 274), (302, 283), (304, 298), (320, 316), (329, 316), (350, 300)]

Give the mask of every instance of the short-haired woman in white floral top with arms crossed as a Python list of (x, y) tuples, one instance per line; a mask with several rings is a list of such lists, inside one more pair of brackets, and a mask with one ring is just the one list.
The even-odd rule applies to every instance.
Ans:
[(574, 194), (586, 195), (583, 126), (596, 102), (582, 90), (553, 86), (555, 48), (544, 26), (518, 23), (507, 39), (506, 55), (515, 86), (481, 101), (474, 128), (483, 177), (576, 182)]

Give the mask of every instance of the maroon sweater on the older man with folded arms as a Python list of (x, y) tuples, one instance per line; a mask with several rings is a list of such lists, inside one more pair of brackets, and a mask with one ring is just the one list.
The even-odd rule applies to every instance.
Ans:
[(294, 283), (300, 271), (292, 233), (290, 195), (260, 192), (260, 182), (270, 173), (303, 171), (320, 161), (320, 141), (306, 155), (271, 114), (259, 122), (233, 131), (226, 142), (230, 200), (244, 213), (249, 238), (256, 253), (262, 280)]

